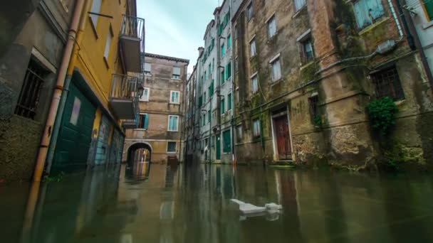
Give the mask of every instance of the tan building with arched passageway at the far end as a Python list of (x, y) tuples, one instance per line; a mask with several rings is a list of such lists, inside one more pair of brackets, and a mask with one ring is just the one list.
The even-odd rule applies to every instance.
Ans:
[(123, 161), (137, 146), (150, 151), (141, 160), (167, 163), (173, 156), (180, 160), (188, 64), (189, 60), (145, 53), (138, 128), (126, 130)]

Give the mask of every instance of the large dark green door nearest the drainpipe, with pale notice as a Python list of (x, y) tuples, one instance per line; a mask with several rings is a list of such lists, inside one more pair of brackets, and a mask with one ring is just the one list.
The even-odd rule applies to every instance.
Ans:
[(54, 171), (85, 168), (96, 107), (71, 83), (54, 152)]

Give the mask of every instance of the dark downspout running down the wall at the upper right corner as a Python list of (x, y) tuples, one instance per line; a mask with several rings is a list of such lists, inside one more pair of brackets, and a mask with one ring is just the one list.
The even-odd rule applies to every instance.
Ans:
[[(398, 7), (398, 11), (400, 11), (400, 13), (403, 14), (403, 18), (402, 20), (407, 21), (407, 25), (409, 26), (409, 30), (407, 31), (407, 33), (412, 33), (413, 35), (413, 39), (414, 39), (414, 44), (416, 46), (416, 48), (419, 50), (419, 55), (421, 56), (421, 62), (422, 65), (424, 66), (424, 69), (426, 71), (426, 75), (427, 75), (427, 79), (429, 80), (430, 86), (433, 88), (433, 75), (432, 75), (432, 70), (429, 67), (429, 63), (427, 62), (427, 56), (424, 53), (424, 48), (422, 48), (421, 45), (421, 41), (419, 41), (419, 36), (417, 31), (415, 30), (415, 26), (414, 26), (414, 22), (412, 21), (412, 17), (410, 16), (410, 13), (406, 10), (403, 11), (402, 10), (402, 6), (400, 4), (399, 0), (397, 1), (397, 7)], [(405, 4), (407, 4), (407, 1), (404, 1)]]

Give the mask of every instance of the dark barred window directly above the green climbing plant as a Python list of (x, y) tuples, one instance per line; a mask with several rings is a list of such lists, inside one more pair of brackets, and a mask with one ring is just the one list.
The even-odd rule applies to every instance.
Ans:
[(405, 93), (395, 66), (380, 70), (372, 74), (371, 77), (375, 85), (376, 97), (390, 97), (395, 101), (405, 99)]

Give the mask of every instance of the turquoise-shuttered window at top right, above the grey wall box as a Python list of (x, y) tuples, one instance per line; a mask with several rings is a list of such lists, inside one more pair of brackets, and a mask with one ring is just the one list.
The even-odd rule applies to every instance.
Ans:
[(381, 0), (358, 0), (353, 3), (356, 23), (362, 29), (372, 25), (384, 16)]

